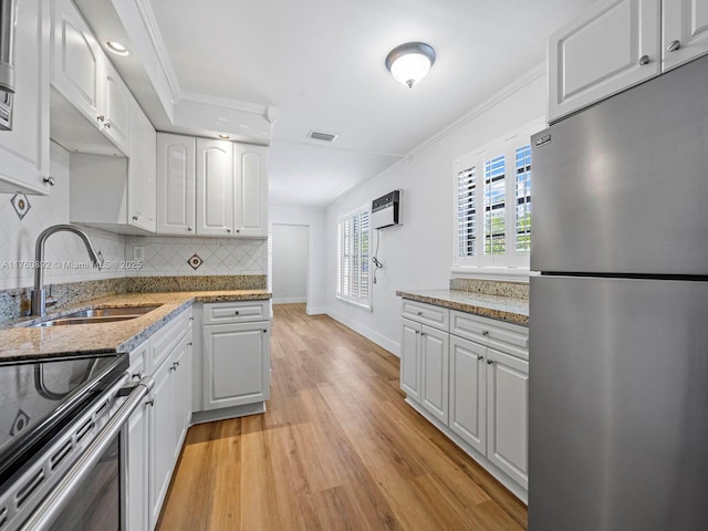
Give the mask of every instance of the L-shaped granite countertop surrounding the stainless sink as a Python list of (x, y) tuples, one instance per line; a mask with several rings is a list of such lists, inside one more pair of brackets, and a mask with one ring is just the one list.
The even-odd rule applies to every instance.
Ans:
[(136, 319), (101, 324), (31, 327), (27, 324), (42, 319), (15, 320), (0, 330), (0, 363), (131, 352), (195, 302), (256, 301), (271, 296), (267, 290), (122, 293), (103, 296), (48, 316), (61, 316), (86, 308), (162, 305)]

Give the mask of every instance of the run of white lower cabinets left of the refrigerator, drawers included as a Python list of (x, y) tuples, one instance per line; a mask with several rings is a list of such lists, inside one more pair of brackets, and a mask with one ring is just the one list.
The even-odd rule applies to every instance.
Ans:
[[(414, 321), (440, 312), (448, 330)], [(407, 402), (525, 500), (528, 329), (409, 300), (403, 314)]]

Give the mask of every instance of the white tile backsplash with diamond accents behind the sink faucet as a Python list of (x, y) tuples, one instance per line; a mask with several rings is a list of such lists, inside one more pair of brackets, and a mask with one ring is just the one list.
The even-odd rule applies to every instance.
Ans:
[[(51, 175), (56, 185), (49, 196), (28, 196), (31, 208), (20, 219), (11, 194), (0, 194), (0, 290), (33, 284), (34, 243), (45, 228), (70, 222), (69, 152), (52, 143)], [(264, 275), (268, 271), (267, 240), (221, 238), (170, 238), (123, 236), (82, 227), (96, 250), (111, 263), (102, 270), (91, 266), (75, 235), (58, 232), (48, 238), (44, 282), (67, 283), (132, 277)], [(139, 268), (133, 263), (134, 248), (142, 251)], [(200, 260), (189, 263), (198, 256)]]

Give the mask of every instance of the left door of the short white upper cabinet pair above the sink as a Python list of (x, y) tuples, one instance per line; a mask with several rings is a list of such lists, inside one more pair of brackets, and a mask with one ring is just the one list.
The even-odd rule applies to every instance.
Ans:
[(71, 0), (54, 0), (52, 85), (88, 119), (103, 115), (105, 56)]

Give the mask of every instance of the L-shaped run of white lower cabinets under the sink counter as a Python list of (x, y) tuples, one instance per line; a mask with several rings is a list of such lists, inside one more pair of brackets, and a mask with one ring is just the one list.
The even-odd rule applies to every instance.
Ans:
[[(196, 316), (202, 314), (201, 305)], [(208, 418), (192, 402), (202, 393), (219, 418), (261, 413), (270, 397), (270, 303), (239, 301), (204, 305), (197, 348), (194, 346), (194, 309), (158, 330), (131, 353), (134, 381), (152, 375), (155, 385), (131, 416), (127, 428), (126, 529), (155, 529), (169, 483), (194, 421)], [(204, 347), (199, 342), (204, 337)], [(195, 367), (202, 363), (205, 389)], [(196, 402), (195, 402), (196, 404)], [(252, 407), (260, 404), (260, 410)], [(244, 406), (246, 409), (226, 409)], [(225, 412), (223, 414), (221, 414)]]

